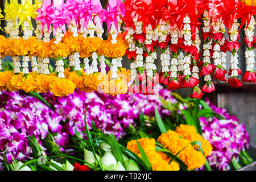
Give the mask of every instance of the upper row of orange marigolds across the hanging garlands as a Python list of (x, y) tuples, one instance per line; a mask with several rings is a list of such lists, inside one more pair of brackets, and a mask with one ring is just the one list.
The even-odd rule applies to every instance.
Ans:
[[(74, 52), (79, 52), (80, 57), (90, 57), (93, 52), (106, 57), (122, 57), (128, 48), (124, 34), (119, 34), (117, 43), (112, 44), (111, 39), (102, 40), (98, 37), (84, 38), (79, 35), (73, 37), (71, 32), (67, 32), (60, 43), (54, 44), (54, 39), (48, 43), (36, 40), (32, 36), (28, 40), (9, 39), (0, 36), (1, 56), (35, 56), (35, 57), (67, 57)], [(111, 37), (111, 36), (110, 36)]]

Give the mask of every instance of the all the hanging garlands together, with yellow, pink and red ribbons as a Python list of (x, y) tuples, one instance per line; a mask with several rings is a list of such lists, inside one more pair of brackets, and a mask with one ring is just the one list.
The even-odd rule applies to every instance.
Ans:
[[(1, 90), (51, 91), (55, 96), (67, 96), (76, 88), (108, 94), (154, 94), (160, 82), (172, 90), (190, 87), (191, 98), (201, 98), (215, 90), (212, 78), (240, 88), (238, 39), (244, 25), (248, 49), (243, 82), (255, 83), (255, 10), (253, 3), (236, 0), (112, 0), (106, 9), (92, 0), (21, 4), (11, 0), (4, 10), (9, 38), (0, 36), (0, 54), (2, 58), (13, 56), (13, 63), (11, 72), (0, 72)], [(36, 27), (32, 26), (34, 19)], [(103, 23), (108, 27), (108, 40), (102, 36)], [(158, 48), (160, 68), (155, 63)], [(227, 51), (232, 53), (231, 60), (226, 60)], [(131, 60), (131, 71), (122, 68), (125, 54)], [(106, 57), (112, 58), (109, 72)], [(226, 68), (227, 61), (230, 68)], [(205, 84), (200, 86), (202, 76)]]

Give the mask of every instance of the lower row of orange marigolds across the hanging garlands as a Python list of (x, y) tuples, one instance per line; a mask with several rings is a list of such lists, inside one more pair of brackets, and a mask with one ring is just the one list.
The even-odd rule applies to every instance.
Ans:
[[(24, 92), (52, 92), (55, 96), (67, 96), (79, 89), (84, 92), (103, 91), (106, 94), (127, 93), (127, 76), (130, 71), (121, 68), (118, 71), (118, 78), (111, 79), (110, 73), (92, 73), (85, 75), (84, 69), (80, 72), (65, 69), (65, 78), (58, 78), (55, 73), (41, 75), (31, 72), (14, 74), (10, 71), (0, 72), (0, 90), (24, 90)], [(112, 88), (113, 87), (113, 88)], [(112, 88), (112, 89), (111, 89)]]

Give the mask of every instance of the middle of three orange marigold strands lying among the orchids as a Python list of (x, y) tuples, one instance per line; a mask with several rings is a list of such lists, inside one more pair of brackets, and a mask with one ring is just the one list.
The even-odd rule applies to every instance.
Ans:
[(160, 135), (158, 142), (177, 155), (187, 166), (188, 169), (200, 168), (205, 164), (205, 156), (202, 152), (195, 150), (187, 139), (180, 138), (175, 131), (168, 130), (167, 133)]

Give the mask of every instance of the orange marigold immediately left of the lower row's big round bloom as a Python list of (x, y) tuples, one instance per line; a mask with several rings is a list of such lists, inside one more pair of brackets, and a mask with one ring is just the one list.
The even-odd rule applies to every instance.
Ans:
[(57, 78), (56, 75), (38, 75), (36, 77), (36, 92), (48, 92), (49, 91), (49, 84), (53, 82)]

